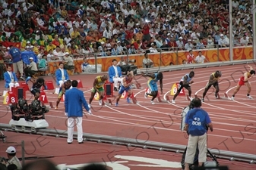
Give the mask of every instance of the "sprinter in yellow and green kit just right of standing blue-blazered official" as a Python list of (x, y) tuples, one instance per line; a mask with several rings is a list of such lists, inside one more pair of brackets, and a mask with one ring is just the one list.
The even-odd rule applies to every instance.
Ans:
[(102, 105), (102, 100), (104, 97), (103, 85), (105, 84), (107, 79), (108, 79), (108, 75), (96, 76), (96, 78), (94, 79), (93, 88), (92, 88), (90, 100), (89, 100), (89, 107), (96, 93), (98, 93), (99, 95), (99, 104), (100, 106)]

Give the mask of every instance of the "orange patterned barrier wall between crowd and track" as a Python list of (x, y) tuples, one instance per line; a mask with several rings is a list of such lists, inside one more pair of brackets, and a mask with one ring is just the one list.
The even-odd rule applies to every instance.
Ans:
[[(202, 50), (193, 50), (194, 57), (198, 56), (198, 51), (202, 51), (202, 54), (209, 60), (209, 62), (221, 62), (229, 61), (229, 48), (210, 48)], [(153, 61), (154, 66), (169, 66), (170, 63), (173, 65), (182, 64), (183, 60), (186, 60), (188, 51), (161, 51), (159, 53), (148, 54), (148, 57)], [(120, 57), (125, 57), (125, 60), (136, 60), (138, 68), (142, 68), (142, 61), (144, 59), (144, 53), (141, 54), (127, 54), (118, 56), (99, 57), (94, 54), (90, 54), (88, 63), (91, 65), (102, 64), (102, 71), (106, 72), (109, 66), (112, 66), (112, 60), (120, 60)], [(252, 60), (253, 59), (253, 48), (252, 46), (247, 47), (235, 47), (233, 48), (233, 60)], [(58, 69), (58, 63), (62, 61), (49, 62), (49, 73), (55, 73)], [(81, 64), (84, 62), (83, 58), (74, 59), (75, 72), (81, 73)]]

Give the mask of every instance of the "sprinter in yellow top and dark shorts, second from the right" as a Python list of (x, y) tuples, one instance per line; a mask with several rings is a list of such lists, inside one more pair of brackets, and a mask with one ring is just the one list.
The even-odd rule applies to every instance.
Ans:
[(218, 93), (220, 91), (219, 88), (219, 79), (222, 76), (222, 73), (220, 71), (216, 71), (215, 73), (212, 73), (210, 75), (209, 82), (207, 82), (207, 85), (204, 88), (203, 98), (202, 101), (204, 102), (204, 97), (207, 94), (207, 91), (210, 89), (210, 87), (213, 85), (215, 88), (215, 97), (218, 98)]

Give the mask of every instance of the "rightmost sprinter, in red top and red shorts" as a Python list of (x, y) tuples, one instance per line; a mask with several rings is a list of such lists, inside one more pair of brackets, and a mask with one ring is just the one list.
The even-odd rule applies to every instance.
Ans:
[(249, 82), (250, 79), (252, 79), (254, 76), (255, 76), (255, 70), (253, 70), (252, 66), (249, 66), (250, 67), (250, 71), (245, 73), (244, 76), (242, 76), (240, 79), (239, 79), (239, 82), (235, 88), (235, 91), (231, 97), (231, 100), (234, 100), (235, 99), (235, 94), (237, 92), (239, 92), (240, 88), (242, 87), (242, 85), (246, 85), (247, 86), (247, 97), (249, 99), (252, 99), (251, 95), (250, 95), (250, 92), (251, 92), (251, 83)]

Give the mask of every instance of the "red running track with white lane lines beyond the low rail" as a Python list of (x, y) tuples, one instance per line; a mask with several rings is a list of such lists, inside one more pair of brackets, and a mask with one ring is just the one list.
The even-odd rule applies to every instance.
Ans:
[[(220, 70), (223, 73), (220, 82), (220, 96), (228, 91), (229, 97), (232, 94), (235, 82), (245, 73), (244, 65), (221, 66), (215, 68), (195, 69), (194, 84), (191, 85), (193, 94), (198, 92), (200, 97), (203, 88), (207, 84), (210, 73)], [(234, 72), (237, 73), (234, 73)], [(175, 82), (179, 82), (185, 73), (189, 70), (173, 71), (163, 73), (163, 92), (162, 100)], [(81, 79), (84, 88), (84, 96), (88, 100), (90, 97), (90, 88), (93, 85), (93, 79), (96, 75), (71, 76), (71, 79)], [(49, 80), (51, 77), (46, 77)], [(147, 79), (136, 76), (137, 82), (141, 83), (142, 89), (134, 89), (134, 95), (139, 104), (127, 104), (122, 99), (119, 107), (98, 106), (96, 100), (93, 100), (93, 116), (84, 116), (84, 132), (93, 134), (106, 134), (124, 138), (137, 138), (144, 141), (158, 141), (169, 144), (187, 144), (187, 139), (182, 131), (179, 130), (181, 122), (180, 113), (182, 108), (189, 104), (185, 97), (177, 97), (176, 104), (157, 103), (150, 104), (150, 99), (144, 98), (144, 91), (147, 88)], [(256, 98), (256, 79), (251, 79), (251, 96)], [(3, 86), (3, 85), (2, 85)], [(231, 90), (229, 90), (231, 88)], [(186, 91), (187, 92), (187, 91)], [(117, 93), (115, 92), (115, 95)], [(229, 150), (241, 153), (256, 154), (256, 106), (255, 100), (246, 98), (246, 88), (242, 87), (235, 96), (235, 101), (225, 98), (215, 99), (212, 90), (207, 94), (207, 100), (203, 104), (204, 110), (210, 114), (213, 121), (213, 132), (209, 132), (208, 147), (218, 150)], [(27, 97), (30, 94), (27, 92)], [(55, 103), (57, 94), (47, 91), (49, 101)], [(169, 96), (172, 100), (172, 97)], [(113, 104), (115, 101), (113, 101)], [(5, 108), (2, 107), (2, 111)], [(3, 112), (2, 112), (3, 114)], [(3, 116), (0, 122), (8, 123), (11, 118), (10, 113)], [(50, 110), (46, 114), (46, 120), (49, 122), (49, 128), (66, 129), (63, 103), (58, 110)]]

